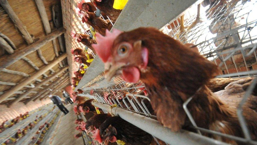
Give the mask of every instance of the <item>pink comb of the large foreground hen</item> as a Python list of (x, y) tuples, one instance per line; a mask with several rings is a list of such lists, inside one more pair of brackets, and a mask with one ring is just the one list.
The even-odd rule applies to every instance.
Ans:
[(122, 31), (113, 29), (112, 32), (106, 29), (105, 36), (101, 34), (96, 34), (97, 44), (92, 44), (92, 47), (95, 49), (97, 55), (102, 59), (105, 63), (111, 55), (111, 48), (113, 41), (120, 35)]

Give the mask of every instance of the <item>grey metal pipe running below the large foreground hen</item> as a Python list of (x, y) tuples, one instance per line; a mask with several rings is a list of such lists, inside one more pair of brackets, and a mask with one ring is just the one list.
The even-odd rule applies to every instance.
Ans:
[(147, 133), (154, 135), (168, 144), (189, 145), (189, 144), (226, 144), (212, 138), (208, 138), (193, 132), (181, 130), (181, 132), (171, 132), (169, 128), (163, 127), (157, 120), (127, 111), (118, 107), (112, 107), (99, 102), (92, 102), (96, 107), (120, 116), (122, 119), (139, 127)]

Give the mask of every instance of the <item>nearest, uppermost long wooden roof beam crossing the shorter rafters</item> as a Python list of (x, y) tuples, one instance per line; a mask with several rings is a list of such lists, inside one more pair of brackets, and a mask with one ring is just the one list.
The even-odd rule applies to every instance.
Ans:
[(27, 46), (26, 48), (14, 52), (12, 55), (8, 55), (8, 56), (5, 55), (5, 56), (1, 57), (0, 58), (0, 68), (6, 68), (6, 67), (10, 66), (11, 64), (17, 62), (19, 59), (36, 51), (37, 49), (39, 49), (40, 47), (42, 47), (49, 41), (52, 41), (56, 37), (60, 36), (65, 31), (66, 31), (65, 29), (60, 28), (56, 31), (53, 31), (51, 34), (43, 37), (42, 39), (39, 39), (37, 42)]

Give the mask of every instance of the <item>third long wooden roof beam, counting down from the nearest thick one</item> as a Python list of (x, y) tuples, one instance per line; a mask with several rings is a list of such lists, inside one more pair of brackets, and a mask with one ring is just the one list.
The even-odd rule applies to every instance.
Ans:
[[(62, 68), (59, 72), (53, 74), (51, 77), (48, 77), (47, 79), (45, 79), (44, 81), (40, 82), (37, 84), (37, 86), (35, 86), (34, 88), (29, 89), (26, 93), (22, 94), (21, 96), (17, 97), (14, 101), (12, 101), (11, 103), (8, 104), (8, 107), (11, 107), (13, 104), (16, 104), (17, 102), (21, 101), (24, 97), (26, 97), (28, 94), (30, 94), (32, 91), (38, 89), (40, 86), (44, 85), (45, 83), (49, 82), (51, 79), (59, 76), (60, 74), (62, 74), (64, 71), (66, 71), (66, 69), (68, 69), (67, 67)], [(63, 75), (63, 74), (62, 74)]]

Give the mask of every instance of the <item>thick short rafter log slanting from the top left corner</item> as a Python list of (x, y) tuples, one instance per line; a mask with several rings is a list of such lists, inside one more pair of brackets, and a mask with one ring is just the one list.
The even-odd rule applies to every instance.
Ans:
[(13, 11), (13, 9), (11, 8), (11, 6), (9, 5), (9, 3), (7, 2), (7, 0), (0, 0), (0, 4), (2, 5), (2, 7), (4, 8), (4, 10), (6, 11), (6, 13), (8, 14), (8, 16), (11, 18), (11, 20), (13, 21), (14, 25), (19, 29), (19, 31), (22, 34), (22, 37), (25, 39), (25, 41), (28, 44), (33, 43), (33, 39), (31, 37), (31, 35), (29, 34), (29, 32), (27, 31), (26, 26), (22, 23), (22, 21), (18, 18), (18, 16), (16, 15), (16, 13)]

